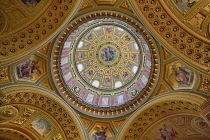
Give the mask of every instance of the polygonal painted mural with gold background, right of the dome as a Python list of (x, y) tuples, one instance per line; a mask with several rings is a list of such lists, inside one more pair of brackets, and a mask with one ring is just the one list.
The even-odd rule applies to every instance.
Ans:
[(195, 76), (194, 72), (179, 62), (167, 65), (167, 80), (175, 89), (192, 88)]

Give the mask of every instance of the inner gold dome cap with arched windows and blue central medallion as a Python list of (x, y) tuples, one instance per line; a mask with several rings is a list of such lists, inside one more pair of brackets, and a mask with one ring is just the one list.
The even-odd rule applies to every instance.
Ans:
[(143, 59), (138, 39), (117, 24), (91, 27), (72, 46), (79, 81), (104, 94), (133, 84)]

